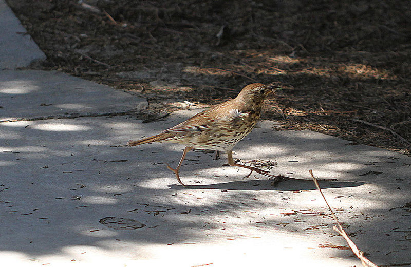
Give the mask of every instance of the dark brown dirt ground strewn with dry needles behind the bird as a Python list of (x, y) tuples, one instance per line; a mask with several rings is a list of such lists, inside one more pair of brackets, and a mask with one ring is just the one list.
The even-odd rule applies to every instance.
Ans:
[[(59, 70), (146, 98), (149, 121), (283, 83), (264, 118), (411, 155), (411, 5), (6, 0)], [(319, 144), (321, 145), (321, 144)]]

